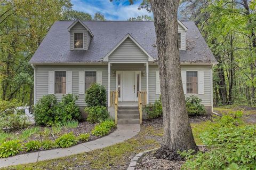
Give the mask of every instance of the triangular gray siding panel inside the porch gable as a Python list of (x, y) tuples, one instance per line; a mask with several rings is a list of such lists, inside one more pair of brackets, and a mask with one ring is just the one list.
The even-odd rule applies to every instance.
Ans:
[(108, 61), (148, 61), (148, 56), (131, 40), (131, 38), (127, 38), (109, 55)]

